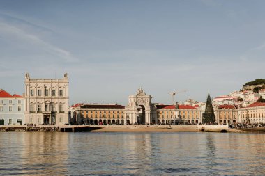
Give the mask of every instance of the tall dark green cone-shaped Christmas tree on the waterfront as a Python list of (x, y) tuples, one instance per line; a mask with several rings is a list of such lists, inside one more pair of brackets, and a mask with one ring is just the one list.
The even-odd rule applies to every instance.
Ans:
[(211, 97), (210, 97), (209, 93), (208, 93), (208, 97), (207, 97), (205, 112), (204, 112), (204, 115), (202, 117), (202, 123), (206, 123), (206, 124), (210, 124), (210, 123), (214, 124), (215, 123), (213, 104), (211, 104)]

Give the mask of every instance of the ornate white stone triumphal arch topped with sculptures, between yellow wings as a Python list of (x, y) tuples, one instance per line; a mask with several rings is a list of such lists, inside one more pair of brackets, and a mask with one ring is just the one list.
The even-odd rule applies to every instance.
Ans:
[(153, 106), (151, 99), (151, 95), (146, 95), (142, 88), (137, 90), (136, 95), (130, 95), (125, 109), (126, 124), (156, 123), (156, 107)]

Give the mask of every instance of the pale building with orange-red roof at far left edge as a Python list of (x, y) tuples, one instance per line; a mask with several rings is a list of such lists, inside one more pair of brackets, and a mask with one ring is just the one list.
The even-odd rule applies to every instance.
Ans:
[(0, 125), (24, 124), (24, 97), (0, 89)]

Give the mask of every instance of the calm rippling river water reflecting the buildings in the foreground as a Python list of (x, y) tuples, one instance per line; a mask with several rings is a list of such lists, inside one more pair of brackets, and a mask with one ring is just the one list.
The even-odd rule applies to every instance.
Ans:
[(0, 133), (0, 175), (265, 175), (265, 134)]

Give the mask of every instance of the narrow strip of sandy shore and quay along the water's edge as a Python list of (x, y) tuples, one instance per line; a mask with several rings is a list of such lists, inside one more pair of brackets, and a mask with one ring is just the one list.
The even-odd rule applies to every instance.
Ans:
[(1, 132), (8, 131), (57, 131), (57, 132), (230, 132), (265, 133), (265, 127), (231, 129), (227, 125), (6, 125)]

